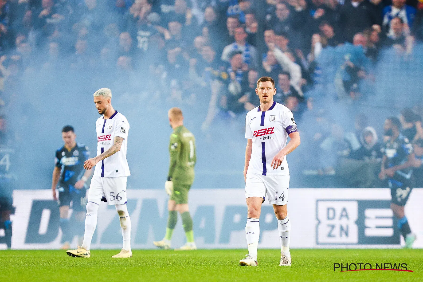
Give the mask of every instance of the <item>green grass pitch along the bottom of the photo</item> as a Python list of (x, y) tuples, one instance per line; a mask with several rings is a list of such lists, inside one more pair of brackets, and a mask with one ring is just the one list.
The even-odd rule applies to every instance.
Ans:
[[(57, 250), (0, 251), (0, 281), (423, 281), (423, 249), (292, 249), (292, 266), (280, 267), (280, 251), (259, 249), (258, 267), (239, 266), (246, 250), (188, 252), (92, 250), (74, 258)], [(334, 263), (407, 263), (405, 271), (334, 272)], [(337, 270), (338, 271), (338, 270)]]

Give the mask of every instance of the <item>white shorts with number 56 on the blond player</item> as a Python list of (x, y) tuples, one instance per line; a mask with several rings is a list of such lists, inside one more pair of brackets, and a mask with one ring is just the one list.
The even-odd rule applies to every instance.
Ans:
[(101, 177), (91, 179), (88, 201), (105, 197), (109, 205), (124, 205), (126, 198), (126, 176)]

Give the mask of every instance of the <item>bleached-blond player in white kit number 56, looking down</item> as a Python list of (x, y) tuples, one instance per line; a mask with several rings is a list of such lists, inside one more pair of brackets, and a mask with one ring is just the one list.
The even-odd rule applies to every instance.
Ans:
[(129, 123), (111, 104), (112, 92), (101, 88), (94, 93), (94, 103), (100, 115), (96, 121), (97, 156), (84, 162), (89, 170), (95, 166), (88, 192), (85, 234), (82, 246), (66, 251), (72, 257), (90, 257), (90, 245), (97, 225), (101, 201), (115, 205), (121, 222), (124, 246), (113, 258), (132, 257), (131, 219), (126, 208), (126, 177), (131, 175), (126, 162)]

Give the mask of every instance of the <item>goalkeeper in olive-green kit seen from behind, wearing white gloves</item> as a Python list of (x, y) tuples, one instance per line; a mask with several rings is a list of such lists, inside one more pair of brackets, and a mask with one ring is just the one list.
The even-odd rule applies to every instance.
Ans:
[(192, 231), (192, 218), (188, 207), (188, 191), (194, 181), (194, 166), (197, 159), (195, 155), (195, 138), (185, 126), (182, 111), (172, 108), (168, 112), (169, 123), (173, 129), (170, 135), (170, 165), (168, 180), (165, 182), (166, 192), (170, 198), (168, 201), (168, 227), (162, 241), (154, 241), (154, 246), (160, 249), (170, 249), (170, 240), (173, 230), (181, 214), (182, 226), (187, 236), (187, 244), (175, 251), (196, 250), (194, 233)]

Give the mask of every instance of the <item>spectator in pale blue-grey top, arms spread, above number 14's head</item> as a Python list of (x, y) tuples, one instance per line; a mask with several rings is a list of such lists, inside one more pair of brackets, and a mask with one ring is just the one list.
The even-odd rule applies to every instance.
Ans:
[(232, 44), (229, 44), (223, 49), (222, 52), (222, 60), (223, 61), (229, 61), (229, 54), (233, 50), (240, 50), (242, 51), (242, 60), (243, 62), (249, 66), (250, 68), (257, 68), (257, 50), (254, 46), (247, 43), (247, 33), (245, 32), (244, 27), (236, 27), (234, 29), (234, 36), (235, 36), (235, 42)]

